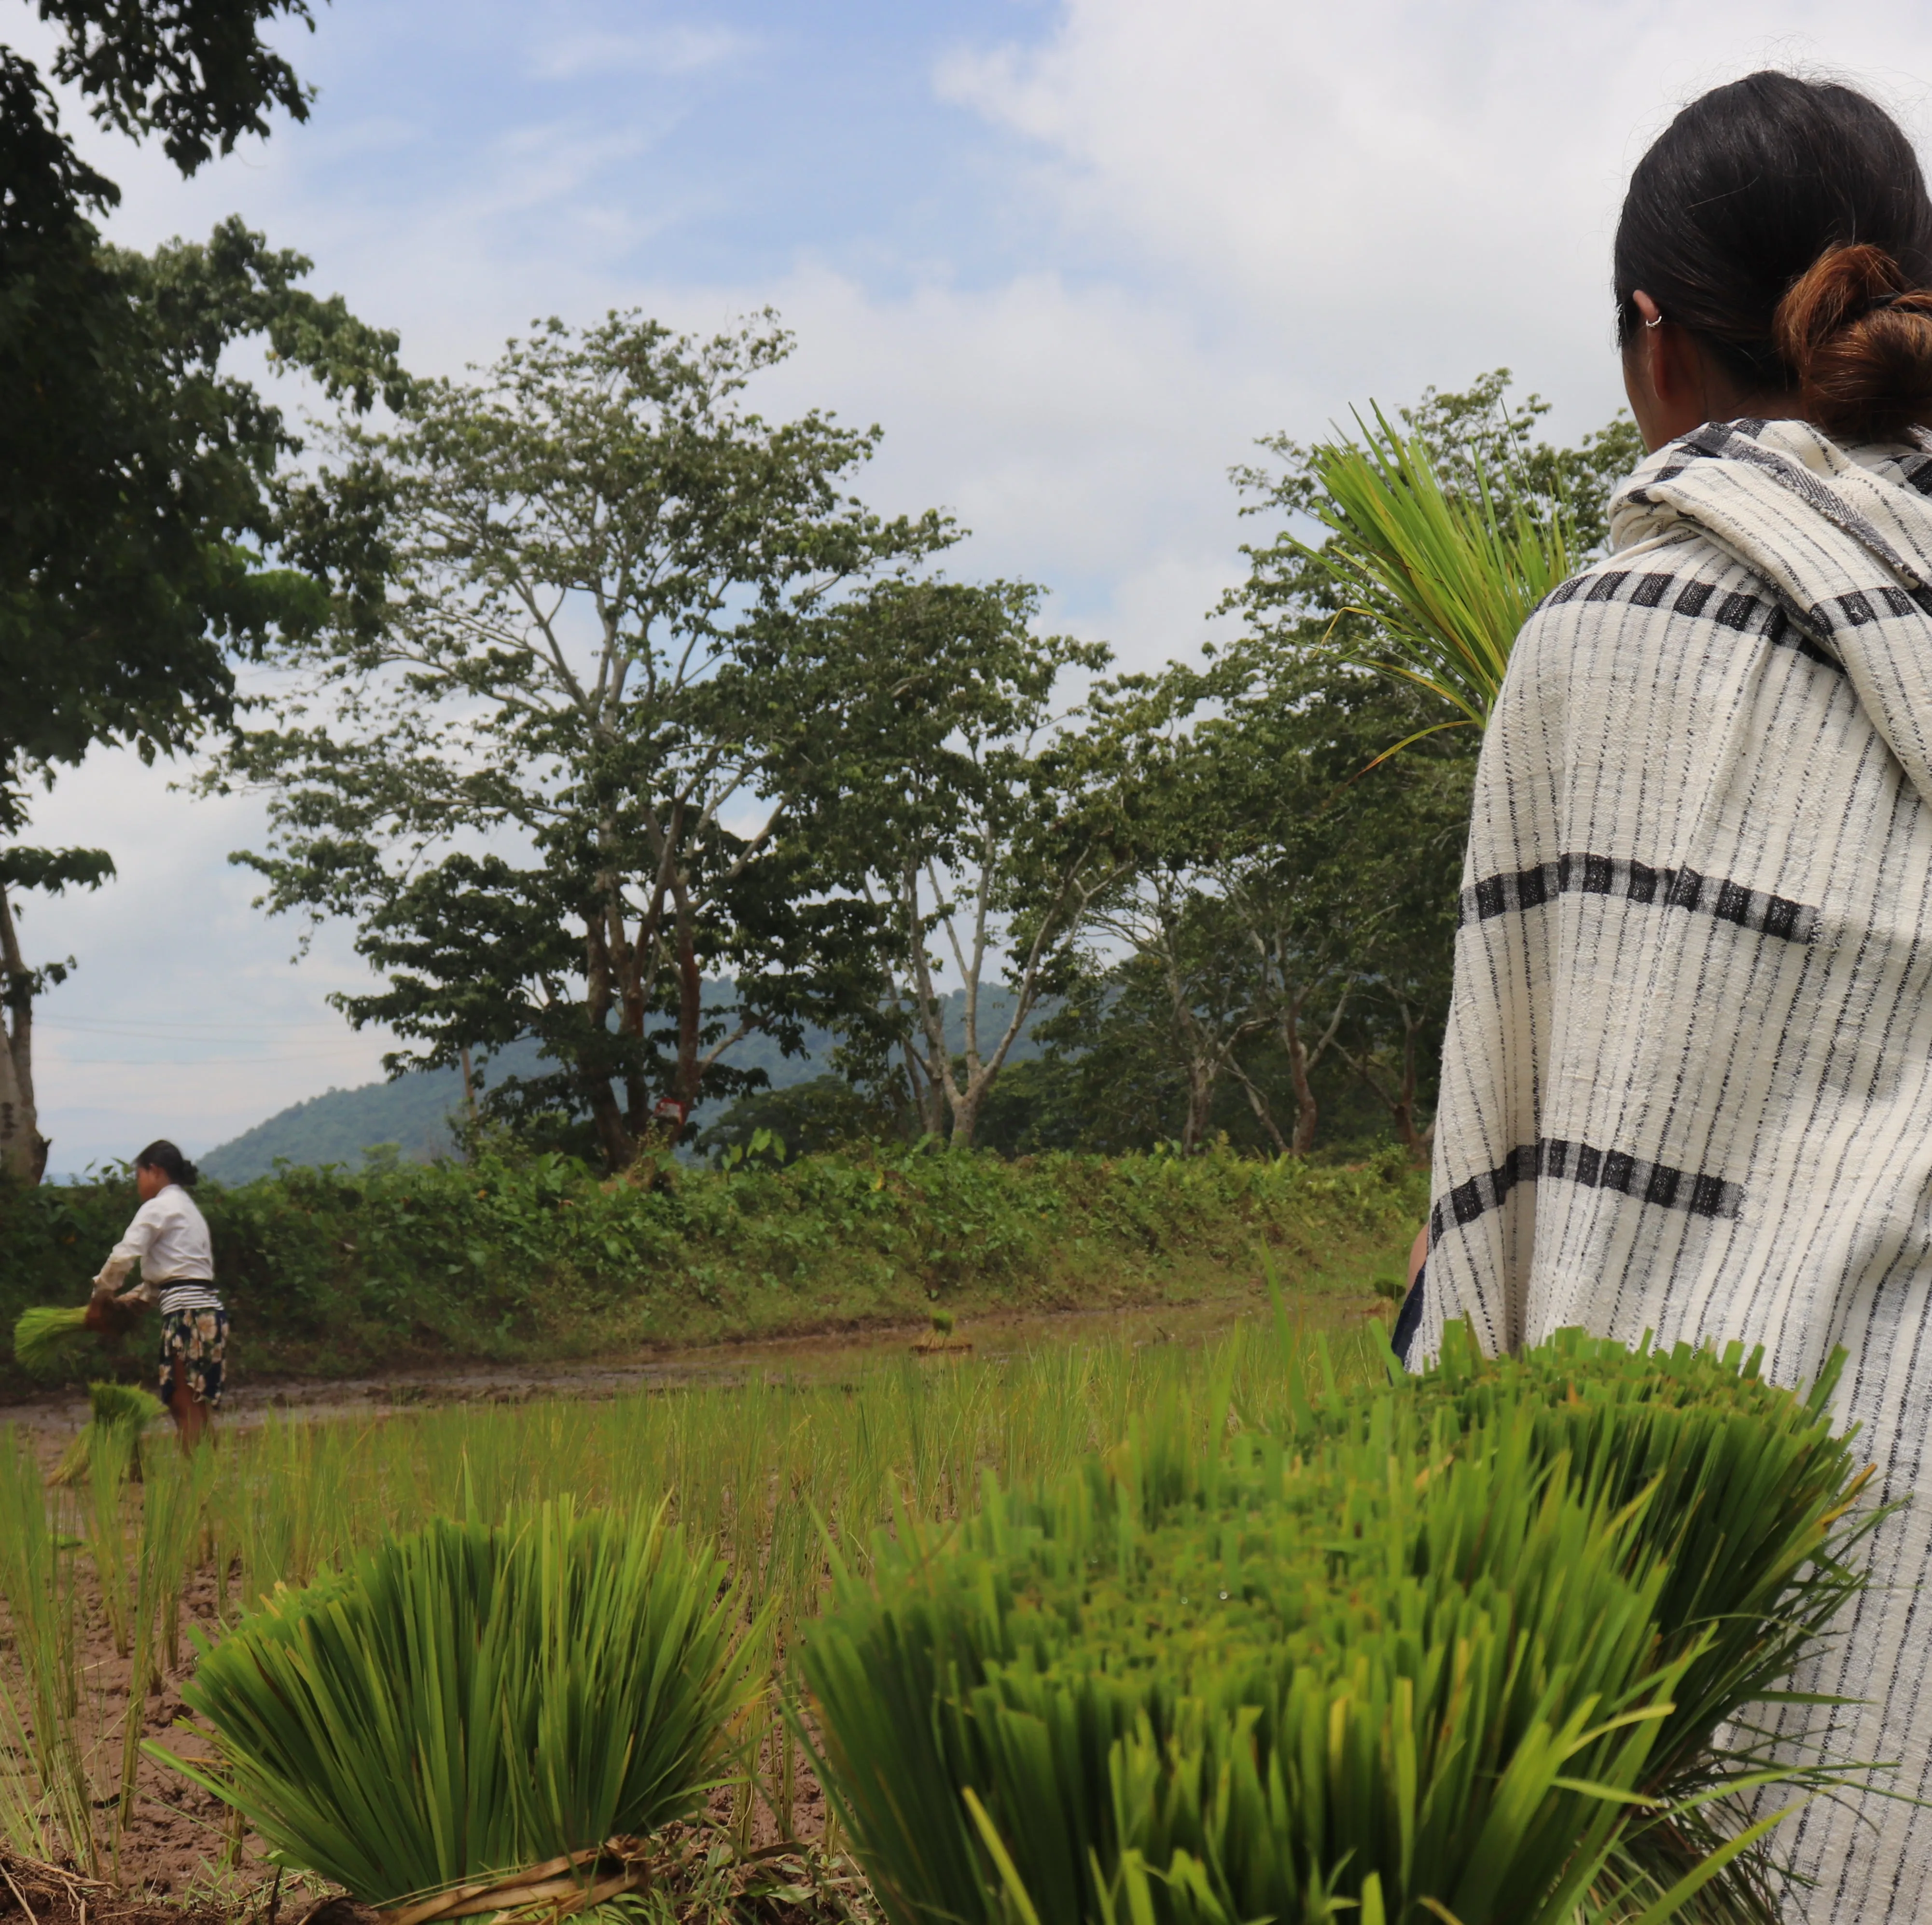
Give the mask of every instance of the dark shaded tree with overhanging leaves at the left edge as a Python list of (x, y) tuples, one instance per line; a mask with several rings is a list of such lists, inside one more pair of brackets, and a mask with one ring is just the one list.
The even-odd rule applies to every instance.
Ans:
[[(301, 0), (41, 0), (54, 73), (99, 120), (155, 135), (184, 174), (309, 95), (261, 41)], [(309, 620), (319, 597), (265, 558), (270, 477), (299, 442), (222, 369), (236, 342), (367, 404), (400, 392), (394, 336), (296, 284), (309, 263), (240, 222), (151, 257), (102, 241), (118, 201), (60, 127), (33, 62), (0, 46), (0, 840), (27, 794), (99, 741), (172, 753), (234, 699), (230, 656)], [(46, 1158), (17, 890), (99, 884), (99, 850), (0, 853), (0, 1168)]]

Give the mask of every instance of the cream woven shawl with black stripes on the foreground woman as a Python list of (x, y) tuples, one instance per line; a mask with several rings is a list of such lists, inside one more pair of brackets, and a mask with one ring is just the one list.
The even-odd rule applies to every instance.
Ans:
[[(1932, 446), (1932, 442), (1928, 442)], [(1476, 780), (1424, 1321), (1851, 1365), (1874, 1589), (1801, 1688), (1932, 1798), (1932, 454), (1712, 425), (1530, 618)], [(1793, 1728), (1822, 1716), (1785, 1715)], [(1855, 1805), (1861, 1801), (1855, 1799)], [(1862, 1819), (1862, 1823), (1861, 1823)], [(1932, 1811), (1814, 1803), (1812, 1921), (1932, 1913)]]

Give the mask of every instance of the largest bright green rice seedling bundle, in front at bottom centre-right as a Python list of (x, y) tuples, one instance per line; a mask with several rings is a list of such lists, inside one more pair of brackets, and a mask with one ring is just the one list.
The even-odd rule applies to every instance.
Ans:
[(1099, 1921), (1142, 1881), (1159, 1919), (1569, 1925), (1685, 1660), (1528, 1442), (1269, 1442), (1180, 1489), (1161, 1438), (952, 1547), (904, 1520), (802, 1653), (887, 1915)]

